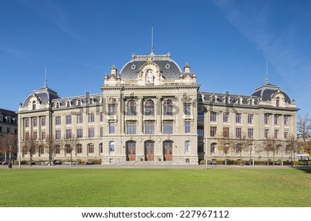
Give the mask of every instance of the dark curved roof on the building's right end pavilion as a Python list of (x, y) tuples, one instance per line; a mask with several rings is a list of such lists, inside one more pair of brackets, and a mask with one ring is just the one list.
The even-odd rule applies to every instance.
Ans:
[(288, 94), (281, 90), (279, 86), (270, 83), (265, 83), (262, 86), (256, 88), (254, 93), (252, 93), (252, 96), (262, 97), (263, 101), (268, 101), (271, 99), (271, 96), (278, 90), (284, 95), (285, 102), (291, 104), (292, 102), (290, 101), (290, 97), (288, 96)]

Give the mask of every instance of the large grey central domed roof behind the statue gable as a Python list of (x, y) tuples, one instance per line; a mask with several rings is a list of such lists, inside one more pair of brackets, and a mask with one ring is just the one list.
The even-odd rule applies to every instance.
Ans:
[(120, 70), (121, 79), (136, 79), (138, 70), (146, 63), (147, 59), (150, 58), (156, 63), (160, 70), (162, 70), (162, 77), (165, 79), (178, 79), (182, 70), (180, 66), (171, 59), (171, 54), (167, 55), (133, 55), (131, 61), (127, 62)]

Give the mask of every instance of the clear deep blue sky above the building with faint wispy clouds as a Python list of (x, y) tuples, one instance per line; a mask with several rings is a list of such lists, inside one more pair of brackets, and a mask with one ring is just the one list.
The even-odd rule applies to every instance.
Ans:
[(17, 111), (32, 90), (100, 93), (105, 73), (136, 55), (171, 52), (200, 90), (250, 95), (281, 86), (311, 113), (311, 1), (2, 0), (0, 108)]

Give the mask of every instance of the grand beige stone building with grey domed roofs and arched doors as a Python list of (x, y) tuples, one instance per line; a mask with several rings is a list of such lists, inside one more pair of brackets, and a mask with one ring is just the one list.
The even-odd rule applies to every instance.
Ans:
[[(190, 66), (182, 70), (170, 53), (132, 55), (120, 73), (111, 67), (102, 93), (61, 98), (46, 85), (34, 90), (19, 106), (21, 144), (27, 137), (44, 144), (52, 135), (59, 141), (57, 160), (73, 155), (102, 164), (198, 164), (205, 146), (209, 157), (223, 157), (217, 143), (224, 128), (228, 135), (248, 133), (254, 140), (264, 140), (267, 130), (283, 140), (296, 134), (298, 109), (279, 86), (266, 83), (249, 96), (199, 88)], [(72, 137), (73, 150), (61, 142)], [(38, 148), (33, 157), (44, 160), (48, 153)]]

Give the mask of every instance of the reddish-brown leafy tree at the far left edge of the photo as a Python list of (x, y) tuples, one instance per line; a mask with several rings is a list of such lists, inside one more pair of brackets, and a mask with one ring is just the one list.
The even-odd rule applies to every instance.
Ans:
[(12, 155), (17, 154), (17, 135), (7, 133), (0, 140), (0, 153), (9, 154), (9, 161), (12, 160)]

